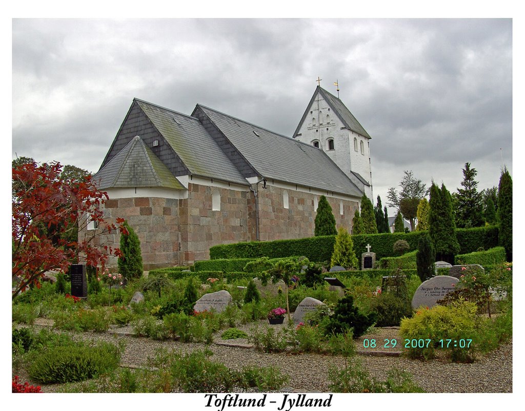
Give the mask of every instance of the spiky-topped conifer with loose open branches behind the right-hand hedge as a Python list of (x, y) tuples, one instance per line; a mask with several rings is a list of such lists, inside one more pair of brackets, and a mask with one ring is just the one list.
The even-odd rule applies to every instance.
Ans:
[(470, 163), (465, 163), (463, 181), (454, 194), (456, 226), (459, 228), (480, 227), (485, 224), (483, 219), (483, 194), (478, 193), (476, 168), (471, 168)]

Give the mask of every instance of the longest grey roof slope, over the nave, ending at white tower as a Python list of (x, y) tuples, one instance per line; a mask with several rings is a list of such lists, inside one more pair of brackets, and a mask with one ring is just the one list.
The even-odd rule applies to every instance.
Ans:
[(360, 189), (322, 150), (213, 109), (201, 105), (198, 107), (261, 176), (362, 196)]

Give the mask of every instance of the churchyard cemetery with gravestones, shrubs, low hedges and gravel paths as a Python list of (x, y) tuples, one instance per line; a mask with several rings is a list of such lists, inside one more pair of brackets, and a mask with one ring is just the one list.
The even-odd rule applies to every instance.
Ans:
[[(478, 242), (494, 229), (475, 229)], [(472, 253), (500, 255), (492, 264), (435, 261), (422, 281), (415, 256), (385, 246), (418, 236), (353, 236), (373, 268), (330, 270), (329, 253), (316, 258), (319, 241), (337, 244), (325, 236), (301, 240), (308, 257), (283, 255), (286, 240), (266, 257), (256, 243), (242, 259), (246, 243), (216, 246), (125, 285), (85, 265), (52, 272), (13, 300), (13, 373), (41, 392), (510, 392), (512, 265), (493, 244)]]

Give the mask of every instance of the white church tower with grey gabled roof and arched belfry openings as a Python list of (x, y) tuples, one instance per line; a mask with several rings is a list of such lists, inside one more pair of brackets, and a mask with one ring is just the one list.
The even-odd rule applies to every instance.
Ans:
[(327, 153), (374, 204), (371, 137), (339, 98), (317, 86), (293, 138)]

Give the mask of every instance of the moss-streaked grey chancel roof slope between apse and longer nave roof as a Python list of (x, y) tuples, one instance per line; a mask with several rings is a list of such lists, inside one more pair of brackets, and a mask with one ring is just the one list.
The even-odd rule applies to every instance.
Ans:
[(193, 175), (248, 185), (195, 118), (135, 99)]

